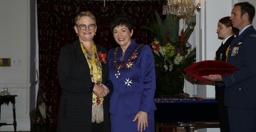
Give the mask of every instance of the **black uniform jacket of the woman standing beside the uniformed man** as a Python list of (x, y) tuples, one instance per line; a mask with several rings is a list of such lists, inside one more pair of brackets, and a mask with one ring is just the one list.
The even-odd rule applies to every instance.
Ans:
[[(220, 47), (216, 51), (216, 56), (215, 56), (216, 60), (226, 62), (227, 48), (230, 46), (230, 44), (234, 38), (235, 38), (234, 35), (232, 35), (231, 37), (229, 37), (227, 39), (227, 41), (223, 45), (220, 45)], [(225, 86), (219, 87), (218, 85), (215, 85), (216, 100), (224, 100), (224, 94), (225, 94)]]

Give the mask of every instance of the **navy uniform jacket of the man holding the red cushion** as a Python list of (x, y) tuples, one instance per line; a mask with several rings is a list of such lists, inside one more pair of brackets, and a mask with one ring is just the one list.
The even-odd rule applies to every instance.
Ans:
[[(232, 56), (233, 49), (238, 49)], [(222, 76), (225, 85), (225, 105), (235, 108), (256, 109), (256, 31), (253, 26), (245, 29), (230, 45), (228, 63), (238, 70)]]

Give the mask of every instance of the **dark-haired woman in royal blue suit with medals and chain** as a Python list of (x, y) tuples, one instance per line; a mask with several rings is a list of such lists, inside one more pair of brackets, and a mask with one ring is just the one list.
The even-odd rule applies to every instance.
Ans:
[(120, 47), (108, 54), (112, 132), (154, 132), (155, 65), (148, 45), (139, 45), (133, 35), (130, 16), (115, 16), (110, 30)]

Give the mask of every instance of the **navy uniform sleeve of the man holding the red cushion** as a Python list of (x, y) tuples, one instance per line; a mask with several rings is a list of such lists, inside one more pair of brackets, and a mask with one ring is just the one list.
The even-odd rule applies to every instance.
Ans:
[(227, 88), (256, 75), (256, 56), (254, 55), (256, 49), (256, 37), (250, 37), (248, 35), (243, 40), (243, 50), (240, 51), (242, 52), (242, 61), (237, 62), (241, 63), (238, 70), (222, 76), (222, 80)]

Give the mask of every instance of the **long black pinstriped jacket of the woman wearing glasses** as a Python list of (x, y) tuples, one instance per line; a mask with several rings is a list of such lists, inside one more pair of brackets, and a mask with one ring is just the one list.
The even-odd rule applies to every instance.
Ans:
[[(107, 54), (105, 48), (98, 45), (96, 48), (97, 52)], [(101, 63), (101, 66), (104, 84), (108, 79), (108, 64)], [(94, 83), (91, 82), (90, 69), (79, 40), (62, 47), (58, 60), (58, 78), (61, 85), (61, 100), (57, 131), (90, 132)], [(110, 132), (108, 98), (104, 98), (103, 110), (104, 132)]]

